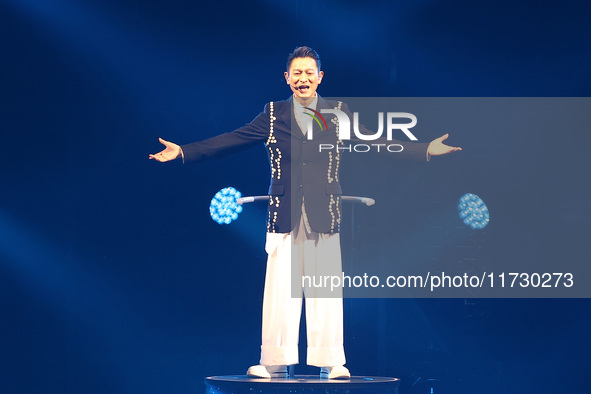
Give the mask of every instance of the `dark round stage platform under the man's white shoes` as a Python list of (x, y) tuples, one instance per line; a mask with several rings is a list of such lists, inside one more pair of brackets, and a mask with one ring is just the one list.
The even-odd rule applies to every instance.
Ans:
[(210, 376), (205, 379), (206, 394), (398, 394), (398, 378), (352, 376), (351, 379), (320, 379), (318, 375), (292, 378), (258, 379), (244, 375)]

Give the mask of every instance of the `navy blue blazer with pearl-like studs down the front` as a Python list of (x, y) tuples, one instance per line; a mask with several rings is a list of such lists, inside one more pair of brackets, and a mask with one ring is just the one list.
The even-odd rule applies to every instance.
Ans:
[[(181, 146), (184, 160), (223, 157), (262, 142), (267, 147), (271, 167), (267, 231), (291, 232), (300, 221), (302, 201), (305, 201), (306, 217), (312, 231), (339, 232), (342, 195), (339, 169), (343, 153), (338, 149), (320, 150), (319, 147), (320, 144), (336, 147), (346, 143), (339, 139), (338, 122), (332, 114), (323, 114), (328, 129), (323, 123), (321, 129), (313, 122), (314, 138), (308, 140), (293, 116), (292, 97), (266, 104), (264, 111), (252, 122), (237, 130)], [(340, 109), (350, 114), (346, 104), (319, 97), (316, 110), (320, 112), (321, 109)], [(364, 132), (363, 128), (361, 131)], [(402, 145), (404, 150), (397, 155), (426, 160), (426, 143), (384, 142)]]

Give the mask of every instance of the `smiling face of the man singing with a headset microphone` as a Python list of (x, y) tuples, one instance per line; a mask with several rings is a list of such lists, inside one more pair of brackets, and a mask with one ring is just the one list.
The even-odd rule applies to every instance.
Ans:
[(316, 60), (311, 57), (297, 57), (284, 75), (294, 96), (307, 101), (306, 98), (316, 97), (316, 89), (322, 82), (324, 72), (318, 71)]

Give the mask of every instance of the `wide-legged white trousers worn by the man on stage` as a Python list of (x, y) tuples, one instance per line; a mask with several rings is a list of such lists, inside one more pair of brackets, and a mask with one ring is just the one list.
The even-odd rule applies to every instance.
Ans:
[[(298, 363), (301, 276), (342, 274), (339, 234), (310, 234), (302, 229), (300, 226), (300, 231), (290, 234), (267, 233), (260, 361), (265, 366)], [(307, 364), (344, 365), (342, 293), (338, 293), (339, 297), (320, 298), (315, 297), (319, 294), (315, 290), (307, 287), (304, 291)]]

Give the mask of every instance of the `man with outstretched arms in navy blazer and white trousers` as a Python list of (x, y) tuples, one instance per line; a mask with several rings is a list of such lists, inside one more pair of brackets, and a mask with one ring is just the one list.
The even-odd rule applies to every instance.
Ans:
[[(204, 141), (179, 146), (160, 139), (165, 149), (150, 159), (184, 162), (222, 157), (258, 143), (267, 147), (271, 167), (267, 218), (268, 253), (263, 299), (262, 346), (260, 364), (247, 375), (261, 378), (286, 377), (287, 366), (298, 363), (298, 336), (302, 298), (292, 297), (295, 275), (331, 270), (341, 271), (341, 223), (339, 164), (341, 152), (319, 152), (320, 143), (342, 145), (336, 117), (326, 116), (326, 129), (309, 127), (314, 111), (338, 109), (341, 102), (329, 102), (316, 90), (324, 72), (318, 54), (299, 47), (288, 57), (285, 80), (292, 96), (270, 102), (249, 124)], [(314, 126), (316, 127), (316, 126)], [(306, 134), (312, 131), (313, 140)], [(430, 143), (406, 143), (402, 156), (428, 160), (461, 150), (445, 145), (448, 135)], [(330, 266), (330, 267), (328, 267)], [(328, 267), (328, 268), (327, 268)], [(299, 282), (301, 283), (301, 281)], [(299, 291), (301, 295), (301, 290)], [(306, 299), (307, 364), (321, 368), (320, 376), (349, 378), (344, 366), (343, 304), (341, 297), (317, 297), (309, 289)]]

